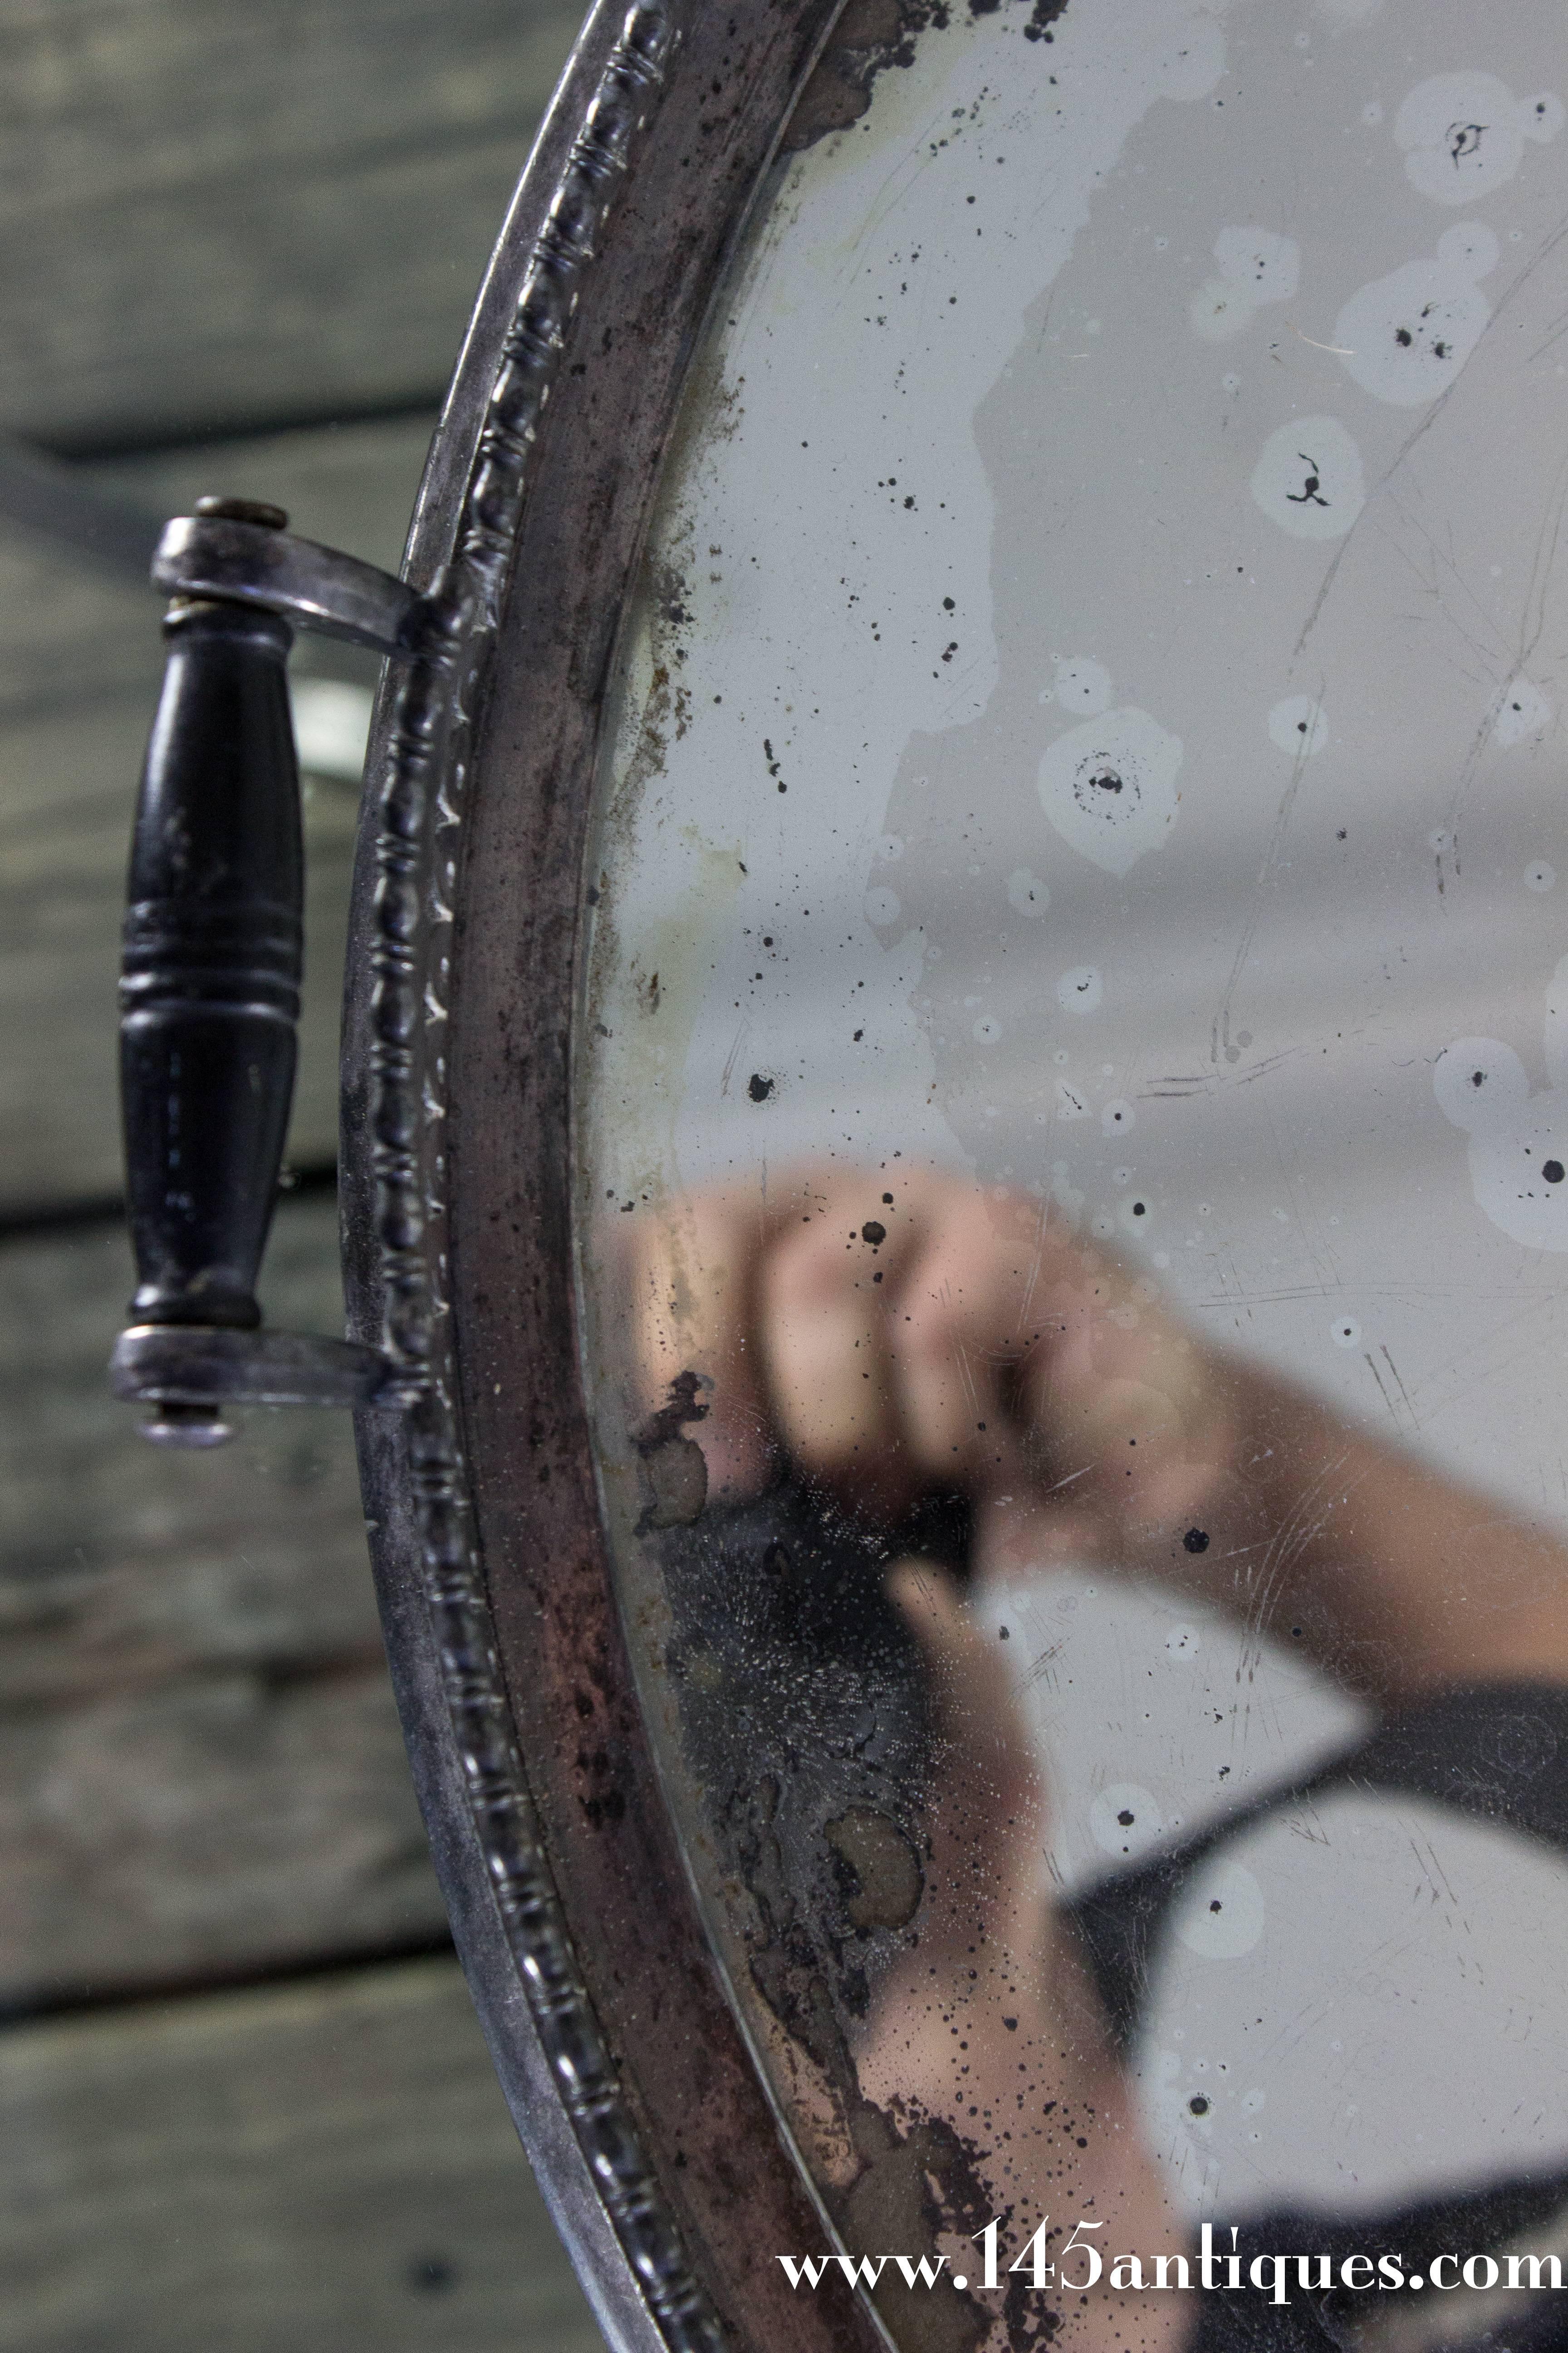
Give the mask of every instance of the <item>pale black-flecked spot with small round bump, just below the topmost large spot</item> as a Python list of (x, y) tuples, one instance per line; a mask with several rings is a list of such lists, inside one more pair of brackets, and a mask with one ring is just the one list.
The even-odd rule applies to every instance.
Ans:
[(1481, 221), (1443, 231), (1432, 261), (1406, 261), (1349, 296), (1328, 341), (1373, 400), (1418, 409), (1446, 393), (1493, 315), (1479, 278), (1497, 268)]

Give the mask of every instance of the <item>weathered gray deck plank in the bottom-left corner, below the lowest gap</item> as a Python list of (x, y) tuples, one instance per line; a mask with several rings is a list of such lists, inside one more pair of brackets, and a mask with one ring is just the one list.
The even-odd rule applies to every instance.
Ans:
[(597, 2353), (456, 1962), (0, 2035), (5, 2353)]

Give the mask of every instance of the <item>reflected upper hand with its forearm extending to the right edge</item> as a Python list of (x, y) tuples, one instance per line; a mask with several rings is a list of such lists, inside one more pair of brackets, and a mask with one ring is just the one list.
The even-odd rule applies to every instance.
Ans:
[(1561, 1541), (1201, 1346), (1023, 1195), (886, 1167), (689, 1195), (630, 1306), (644, 1400), (705, 1384), (719, 1494), (780, 1454), (889, 1515), (959, 1485), (992, 1558), (1178, 1577), (1380, 1697), (1568, 1680)]

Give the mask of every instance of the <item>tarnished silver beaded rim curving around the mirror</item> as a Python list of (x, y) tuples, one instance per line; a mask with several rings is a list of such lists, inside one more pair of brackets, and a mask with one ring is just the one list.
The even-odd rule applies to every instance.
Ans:
[[(851, 0), (853, 5), (853, 0)], [(569, 1066), (602, 696), (696, 332), (797, 104), (849, 120), (898, 12), (599, 7), (491, 261), (367, 767), (343, 1031), (371, 1553), (454, 1932), (614, 2346), (882, 2344), (823, 2247), (696, 1918), (616, 1621), (578, 1386)], [(813, 73), (816, 66), (816, 73)], [(802, 87), (811, 87), (802, 101)], [(797, 127), (802, 115), (797, 113)]]

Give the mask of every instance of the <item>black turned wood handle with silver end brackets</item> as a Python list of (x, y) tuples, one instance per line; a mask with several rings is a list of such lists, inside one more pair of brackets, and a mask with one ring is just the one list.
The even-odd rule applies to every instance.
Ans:
[(261, 1332), (256, 1273), (294, 1099), (303, 962), (294, 626), (395, 654), (416, 642), (421, 602), (284, 525), (275, 506), (202, 499), (153, 562), (174, 602), (125, 913), (136, 1297), (110, 1381), (155, 1407), (143, 1431), (167, 1445), (228, 1438), (223, 1400), (388, 1402), (374, 1348)]

